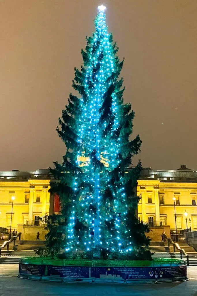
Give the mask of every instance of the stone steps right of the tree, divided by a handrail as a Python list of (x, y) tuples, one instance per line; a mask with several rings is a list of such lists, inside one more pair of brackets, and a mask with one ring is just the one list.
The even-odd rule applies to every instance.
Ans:
[[(186, 242), (178, 242), (180, 248), (184, 249), (189, 255), (190, 266), (197, 266), (197, 252), (193, 247), (190, 247)], [(153, 258), (173, 258), (180, 259), (180, 252), (173, 252), (173, 246), (168, 247), (167, 242), (151, 242), (150, 251), (154, 252)], [(186, 261), (186, 256), (182, 256)]]

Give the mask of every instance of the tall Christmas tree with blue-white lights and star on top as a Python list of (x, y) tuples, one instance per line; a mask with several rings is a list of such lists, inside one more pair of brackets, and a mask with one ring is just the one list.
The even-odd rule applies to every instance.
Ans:
[[(51, 193), (61, 200), (61, 215), (46, 219), (46, 248), (40, 255), (70, 258), (151, 260), (149, 228), (136, 217), (134, 192), (141, 163), (126, 172), (140, 151), (137, 136), (129, 140), (134, 112), (123, 104), (123, 67), (108, 33), (105, 7), (99, 7), (95, 33), (82, 50), (83, 65), (75, 68), (70, 94), (57, 132), (66, 145), (63, 163), (54, 162)], [(145, 247), (142, 247), (145, 246)]]

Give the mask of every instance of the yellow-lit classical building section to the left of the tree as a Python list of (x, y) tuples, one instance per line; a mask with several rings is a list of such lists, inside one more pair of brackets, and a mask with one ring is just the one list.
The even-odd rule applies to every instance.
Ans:
[(0, 172), (0, 227), (10, 228), (11, 215), (12, 230), (18, 224), (38, 225), (49, 213), (49, 182), (48, 170)]

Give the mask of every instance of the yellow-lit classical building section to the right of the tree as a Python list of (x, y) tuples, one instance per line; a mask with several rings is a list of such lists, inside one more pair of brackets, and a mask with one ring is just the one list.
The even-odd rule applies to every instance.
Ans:
[[(144, 168), (138, 181), (138, 217), (150, 226), (169, 225), (177, 231), (197, 229), (197, 173), (184, 165), (178, 170), (153, 171)], [(175, 199), (175, 207), (174, 200)], [(186, 212), (186, 217), (184, 215)], [(190, 223), (191, 221), (191, 223)]]

